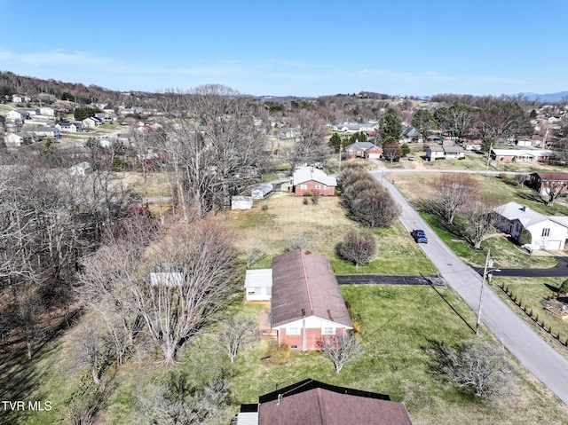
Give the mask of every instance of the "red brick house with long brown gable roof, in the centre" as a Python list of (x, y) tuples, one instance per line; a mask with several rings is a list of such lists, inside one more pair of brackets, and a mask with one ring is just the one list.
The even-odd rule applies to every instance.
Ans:
[(337, 279), (325, 256), (296, 251), (272, 258), (271, 327), (291, 350), (318, 350), (325, 334), (352, 329)]

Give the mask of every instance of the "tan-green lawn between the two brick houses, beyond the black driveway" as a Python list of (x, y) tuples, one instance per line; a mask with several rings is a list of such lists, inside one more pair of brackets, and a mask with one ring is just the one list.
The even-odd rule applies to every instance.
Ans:
[(256, 201), (253, 209), (227, 213), (225, 223), (232, 230), (239, 246), (263, 246), (266, 256), (255, 268), (271, 267), (272, 256), (284, 252), (284, 242), (303, 233), (312, 250), (327, 256), (337, 274), (432, 274), (436, 268), (424, 256), (400, 224), (390, 229), (375, 229), (378, 255), (374, 261), (355, 268), (335, 256), (335, 245), (350, 229), (362, 229), (353, 222), (337, 197), (321, 197), (317, 204), (304, 205), (304, 198), (290, 193), (272, 193)]

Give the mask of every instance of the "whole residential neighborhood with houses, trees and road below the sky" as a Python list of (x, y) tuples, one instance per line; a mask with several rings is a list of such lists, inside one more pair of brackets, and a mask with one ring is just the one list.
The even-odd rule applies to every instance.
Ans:
[(565, 101), (0, 76), (5, 423), (568, 423)]

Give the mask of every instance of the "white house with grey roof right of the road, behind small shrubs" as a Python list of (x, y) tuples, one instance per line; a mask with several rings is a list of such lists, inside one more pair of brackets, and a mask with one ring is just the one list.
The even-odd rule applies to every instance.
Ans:
[(521, 232), (531, 232), (532, 242), (526, 246), (537, 250), (564, 250), (568, 242), (568, 217), (545, 216), (517, 202), (509, 202), (494, 209), (501, 216), (498, 224), (502, 232), (518, 240)]

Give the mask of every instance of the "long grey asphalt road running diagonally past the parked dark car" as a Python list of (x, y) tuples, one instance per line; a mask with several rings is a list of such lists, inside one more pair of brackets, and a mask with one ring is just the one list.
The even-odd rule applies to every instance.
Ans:
[[(371, 174), (381, 181), (381, 171)], [(447, 285), (461, 295), (461, 298), (477, 313), (481, 294), (481, 276), (463, 263), (446, 246), (446, 243), (422, 220), (422, 217), (414, 211), (394, 185), (390, 184), (389, 178), (383, 178), (383, 185), (402, 207), (400, 223), (408, 232), (418, 228), (426, 232), (428, 243), (420, 244), (420, 248), (430, 258), (430, 261), (438, 267), (440, 275), (446, 280)], [(483, 291), (481, 319), (483, 324), (493, 332), (511, 354), (549, 390), (568, 404), (568, 359), (561, 356), (548, 343), (542, 341), (540, 336), (516, 313), (510, 311), (509, 307), (487, 285), (485, 285)], [(475, 323), (470, 325), (475, 327)]]

